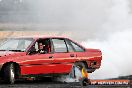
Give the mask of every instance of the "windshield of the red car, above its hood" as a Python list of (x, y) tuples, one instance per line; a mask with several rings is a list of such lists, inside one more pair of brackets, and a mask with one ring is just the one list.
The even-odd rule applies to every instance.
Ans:
[(0, 45), (1, 51), (24, 52), (31, 44), (33, 38), (8, 38)]

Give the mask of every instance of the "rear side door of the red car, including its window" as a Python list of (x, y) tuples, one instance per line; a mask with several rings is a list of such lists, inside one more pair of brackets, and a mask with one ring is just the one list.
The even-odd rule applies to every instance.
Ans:
[(54, 47), (54, 73), (69, 73), (73, 63), (76, 61), (74, 51), (68, 50), (67, 42), (63, 38), (53, 38), (52, 44)]

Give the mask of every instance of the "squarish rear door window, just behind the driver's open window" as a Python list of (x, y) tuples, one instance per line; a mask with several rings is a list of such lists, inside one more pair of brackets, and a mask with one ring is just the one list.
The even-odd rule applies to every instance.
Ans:
[(53, 42), (53, 46), (54, 46), (54, 52), (57, 52), (57, 53), (67, 52), (65, 40), (52, 39), (52, 42)]

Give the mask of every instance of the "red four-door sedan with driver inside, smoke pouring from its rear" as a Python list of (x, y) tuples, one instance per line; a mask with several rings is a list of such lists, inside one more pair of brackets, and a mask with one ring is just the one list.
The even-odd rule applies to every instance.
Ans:
[(63, 37), (7, 38), (0, 45), (0, 76), (13, 84), (28, 76), (72, 74), (75, 67), (88, 73), (101, 65), (99, 49), (86, 49)]

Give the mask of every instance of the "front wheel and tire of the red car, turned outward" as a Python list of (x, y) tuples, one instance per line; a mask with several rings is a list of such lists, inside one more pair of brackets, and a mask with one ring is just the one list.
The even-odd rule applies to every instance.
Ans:
[(4, 81), (9, 84), (14, 84), (15, 82), (15, 67), (13, 63), (8, 64), (4, 68)]

